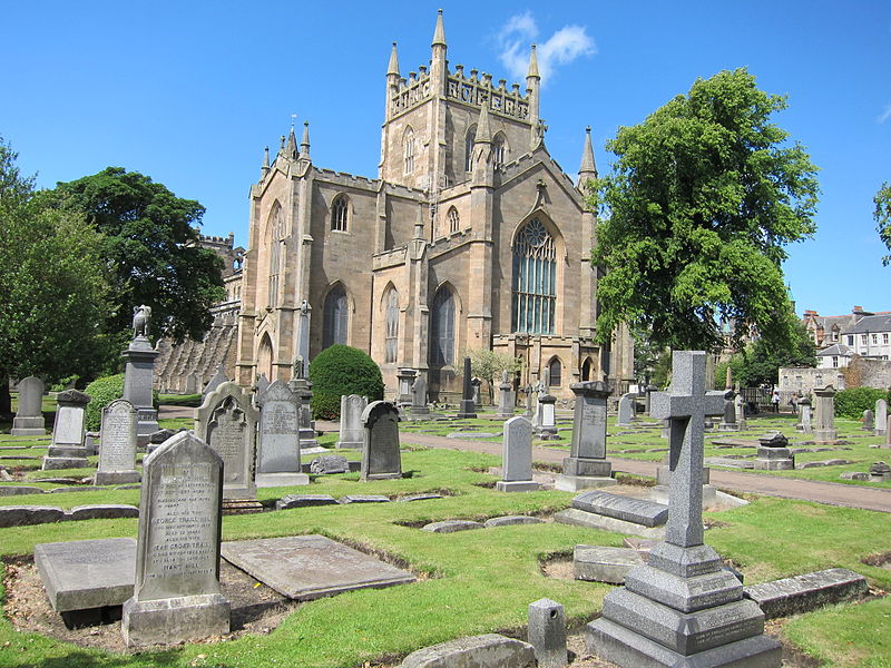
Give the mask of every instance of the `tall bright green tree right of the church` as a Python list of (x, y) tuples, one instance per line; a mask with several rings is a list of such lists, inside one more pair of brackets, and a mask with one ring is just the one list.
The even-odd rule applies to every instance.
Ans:
[(712, 348), (719, 322), (793, 340), (784, 245), (815, 232), (816, 168), (771, 115), (745, 69), (697, 79), (607, 148), (613, 174), (589, 184), (597, 225), (598, 340), (625, 321), (654, 344)]

